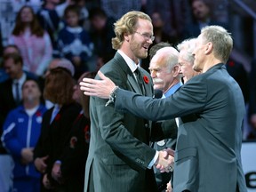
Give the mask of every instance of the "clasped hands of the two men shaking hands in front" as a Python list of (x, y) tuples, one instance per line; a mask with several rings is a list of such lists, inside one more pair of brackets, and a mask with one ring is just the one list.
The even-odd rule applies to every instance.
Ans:
[(156, 168), (159, 169), (160, 172), (173, 172), (174, 150), (166, 148), (158, 152), (158, 158), (155, 163)]

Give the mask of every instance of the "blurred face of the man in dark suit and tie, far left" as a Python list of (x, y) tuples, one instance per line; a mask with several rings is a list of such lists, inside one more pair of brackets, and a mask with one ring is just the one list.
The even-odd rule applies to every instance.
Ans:
[(22, 74), (22, 66), (21, 63), (14, 63), (12, 58), (8, 60), (4, 60), (4, 69), (5, 72), (12, 78), (12, 79), (19, 79), (20, 74)]

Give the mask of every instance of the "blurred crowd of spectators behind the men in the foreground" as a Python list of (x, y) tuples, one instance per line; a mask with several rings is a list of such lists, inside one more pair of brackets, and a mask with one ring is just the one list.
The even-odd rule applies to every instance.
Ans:
[[(89, 98), (77, 84), (84, 76), (94, 78), (114, 57), (113, 24), (125, 12), (148, 13), (156, 37), (151, 46), (166, 42), (176, 47), (207, 25), (228, 29), (228, 20), (212, 17), (211, 5), (201, 0), (0, 3), (0, 192), (8, 191), (13, 180), (17, 191), (51, 191), (60, 184), (66, 191), (83, 191), (84, 179), (76, 176), (84, 174), (77, 165), (85, 164), (81, 151), (88, 151)], [(148, 70), (149, 57), (140, 65)], [(256, 59), (249, 72), (236, 58), (226, 66), (244, 93), (244, 140), (255, 140)], [(13, 164), (14, 178), (8, 169)]]

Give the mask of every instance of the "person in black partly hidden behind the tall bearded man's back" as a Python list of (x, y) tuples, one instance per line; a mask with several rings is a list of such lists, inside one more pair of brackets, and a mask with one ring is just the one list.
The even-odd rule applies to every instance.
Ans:
[(84, 191), (84, 169), (90, 142), (90, 97), (81, 92), (78, 83), (84, 77), (94, 78), (95, 75), (96, 72), (85, 72), (74, 86), (73, 99), (83, 106), (83, 109), (72, 125), (60, 160), (52, 167), (52, 178), (65, 188), (65, 192)]

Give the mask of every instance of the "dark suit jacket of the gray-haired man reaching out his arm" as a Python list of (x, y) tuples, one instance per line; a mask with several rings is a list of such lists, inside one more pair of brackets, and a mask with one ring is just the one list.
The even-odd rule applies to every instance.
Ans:
[(196, 114), (180, 124), (175, 152), (174, 191), (246, 191), (241, 164), (244, 97), (224, 64), (194, 76), (162, 100), (117, 90), (116, 109), (151, 120)]

